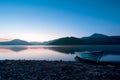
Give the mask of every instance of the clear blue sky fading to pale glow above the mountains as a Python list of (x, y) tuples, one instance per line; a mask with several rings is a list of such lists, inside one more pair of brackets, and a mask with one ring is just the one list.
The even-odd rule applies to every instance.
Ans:
[(120, 35), (120, 0), (0, 0), (0, 41)]

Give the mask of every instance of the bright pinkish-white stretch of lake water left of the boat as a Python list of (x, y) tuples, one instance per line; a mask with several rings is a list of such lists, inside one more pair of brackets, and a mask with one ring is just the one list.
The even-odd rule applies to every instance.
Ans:
[(0, 47), (0, 60), (5, 59), (74, 61), (74, 54), (54, 51), (46, 46), (2, 46)]

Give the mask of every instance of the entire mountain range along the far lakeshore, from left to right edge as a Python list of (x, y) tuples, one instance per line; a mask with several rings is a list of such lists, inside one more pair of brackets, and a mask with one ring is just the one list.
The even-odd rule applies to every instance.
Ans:
[(120, 36), (107, 36), (95, 33), (88, 37), (63, 37), (46, 42), (27, 42), (14, 39), (7, 42), (0, 42), (0, 45), (120, 45)]

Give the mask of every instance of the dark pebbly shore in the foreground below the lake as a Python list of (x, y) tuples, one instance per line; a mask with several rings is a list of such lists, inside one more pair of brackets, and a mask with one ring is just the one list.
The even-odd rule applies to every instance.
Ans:
[(120, 80), (120, 64), (1, 60), (0, 80)]

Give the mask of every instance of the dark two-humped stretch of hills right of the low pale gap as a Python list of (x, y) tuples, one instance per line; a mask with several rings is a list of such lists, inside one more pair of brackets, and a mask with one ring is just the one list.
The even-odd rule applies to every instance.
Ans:
[(45, 45), (119, 45), (120, 36), (107, 36), (95, 33), (88, 37), (63, 37), (52, 41), (44, 42)]

